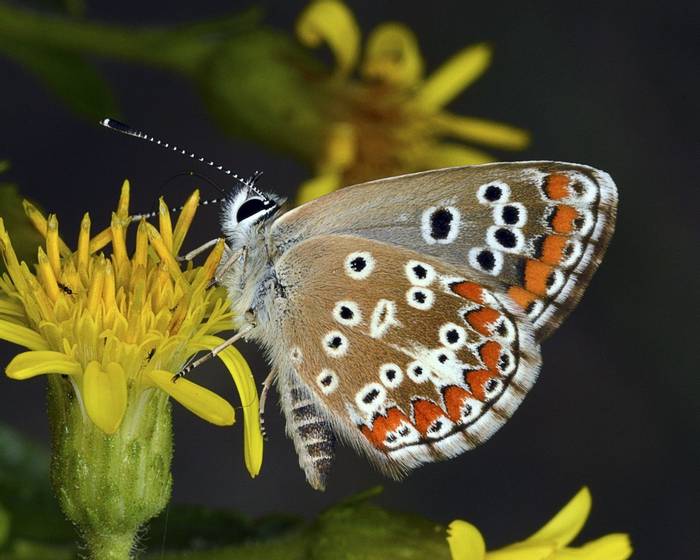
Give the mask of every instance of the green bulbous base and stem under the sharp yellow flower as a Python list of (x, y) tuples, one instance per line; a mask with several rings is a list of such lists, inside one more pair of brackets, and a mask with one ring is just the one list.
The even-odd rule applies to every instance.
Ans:
[(139, 529), (170, 498), (168, 396), (147, 391), (129, 397), (121, 427), (105, 435), (84, 417), (70, 381), (49, 377), (54, 491), (95, 560), (131, 558)]

